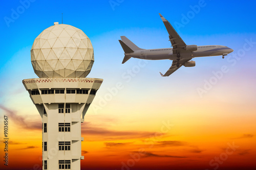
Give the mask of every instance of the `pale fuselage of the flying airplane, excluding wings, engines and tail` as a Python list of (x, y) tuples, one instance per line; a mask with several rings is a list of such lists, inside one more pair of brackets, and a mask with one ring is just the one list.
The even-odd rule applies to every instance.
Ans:
[[(223, 45), (202, 45), (198, 46), (197, 51), (182, 53), (180, 58), (221, 56), (231, 53), (232, 51), (231, 48)], [(177, 60), (177, 55), (173, 54), (173, 48), (143, 49), (135, 51), (134, 53), (125, 53), (125, 55), (145, 60)]]

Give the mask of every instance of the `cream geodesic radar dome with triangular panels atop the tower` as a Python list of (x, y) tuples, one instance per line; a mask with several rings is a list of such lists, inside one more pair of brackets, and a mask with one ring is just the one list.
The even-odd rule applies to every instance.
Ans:
[(93, 66), (93, 46), (82, 30), (54, 22), (36, 37), (31, 62), (39, 78), (84, 78)]

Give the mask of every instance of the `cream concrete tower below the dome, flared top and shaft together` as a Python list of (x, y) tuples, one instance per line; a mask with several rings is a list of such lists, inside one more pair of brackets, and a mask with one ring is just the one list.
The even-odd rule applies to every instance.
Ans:
[(23, 80), (42, 118), (42, 169), (80, 169), (81, 123), (102, 79)]

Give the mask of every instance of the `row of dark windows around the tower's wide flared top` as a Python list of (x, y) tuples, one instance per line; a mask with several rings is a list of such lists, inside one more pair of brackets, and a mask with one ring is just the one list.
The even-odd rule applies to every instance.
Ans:
[[(65, 94), (65, 89), (40, 89), (41, 94)], [(67, 94), (88, 94), (89, 89), (66, 89)], [(96, 89), (91, 89), (90, 94), (95, 95)], [(38, 89), (31, 90), (31, 95), (40, 95)]]

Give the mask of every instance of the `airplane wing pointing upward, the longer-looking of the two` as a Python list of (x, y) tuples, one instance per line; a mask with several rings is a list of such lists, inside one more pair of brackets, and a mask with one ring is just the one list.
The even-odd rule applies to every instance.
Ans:
[[(181, 48), (180, 50), (185, 53), (186, 51), (183, 51), (183, 48), (186, 46), (185, 42), (181, 39), (181, 37), (179, 36), (179, 34), (175, 31), (175, 29), (173, 28), (172, 25), (170, 25), (170, 23), (159, 13), (164, 26), (169, 34), (169, 41), (170, 43), (172, 43), (173, 46), (173, 50), (175, 52), (175, 50), (177, 50), (178, 48)], [(174, 53), (175, 54), (175, 53)]]

